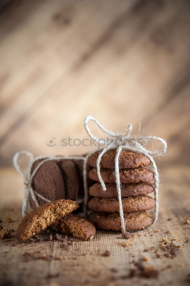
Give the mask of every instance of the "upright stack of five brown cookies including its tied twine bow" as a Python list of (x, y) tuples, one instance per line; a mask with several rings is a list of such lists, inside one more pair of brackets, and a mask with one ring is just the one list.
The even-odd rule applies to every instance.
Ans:
[[(131, 136), (132, 126), (123, 134), (115, 134), (106, 130), (95, 118), (87, 116), (84, 127), (89, 136), (99, 144), (105, 140), (91, 134), (88, 121), (93, 120), (107, 136), (115, 139), (107, 140), (106, 147), (91, 152), (84, 161), (84, 178), (87, 178), (87, 165), (94, 167), (88, 176), (95, 183), (87, 188), (85, 181), (84, 207), (93, 210), (89, 219), (96, 228), (103, 230), (122, 231), (122, 237), (128, 231), (144, 229), (158, 218), (158, 189), (159, 174), (154, 155), (165, 154), (167, 144), (165, 140), (155, 136)], [(143, 145), (130, 146), (129, 139), (143, 140)], [(149, 151), (144, 145), (149, 141), (162, 143), (162, 150)], [(153, 172), (145, 166), (151, 165)], [(153, 181), (151, 184), (150, 181)], [(147, 196), (154, 191), (155, 198)], [(88, 201), (88, 198), (93, 196)], [(155, 207), (154, 220), (147, 211)]]

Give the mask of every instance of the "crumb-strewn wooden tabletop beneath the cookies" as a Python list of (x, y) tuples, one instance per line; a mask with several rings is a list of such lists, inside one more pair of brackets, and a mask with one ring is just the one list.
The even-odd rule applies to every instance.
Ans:
[[(169, 166), (162, 169), (162, 190), (160, 191), (159, 221), (147, 229), (136, 231), (136, 238), (130, 240), (131, 245), (124, 247), (118, 244), (119, 232), (97, 231), (96, 237), (89, 242), (77, 242), (68, 250), (60, 248), (59, 242), (43, 241), (41, 243), (18, 243), (15, 234), (12, 239), (1, 240), (1, 282), (13, 285), (188, 285), (189, 274), (189, 239), (190, 225), (184, 224), (190, 217), (189, 212), (189, 167)], [(1, 211), (0, 219), (3, 227), (17, 229), (21, 219), (20, 203), (23, 182), (15, 170), (0, 170), (1, 178)], [(11, 178), (11, 179), (10, 179)], [(5, 195), (6, 194), (6, 195)], [(13, 210), (14, 209), (14, 210)], [(9, 215), (14, 222), (5, 221)], [(171, 220), (168, 220), (171, 219)], [(159, 229), (159, 232), (156, 230)], [(170, 233), (165, 233), (170, 231)], [(46, 238), (43, 232), (41, 237)], [(153, 236), (151, 236), (153, 235)], [(179, 254), (174, 259), (165, 257), (161, 249), (160, 258), (155, 257), (155, 249), (143, 252), (144, 249), (157, 249), (163, 237), (179, 239), (182, 244)], [(13, 246), (13, 243), (16, 246)], [(103, 257), (104, 251), (110, 251), (109, 257)], [(32, 253), (38, 259), (25, 261), (25, 252)], [(38, 253), (39, 252), (39, 253)], [(63, 256), (63, 260), (47, 261), (39, 256)], [(148, 257), (145, 265), (153, 265), (160, 270), (157, 279), (141, 277), (127, 278), (130, 269), (134, 268), (133, 260), (139, 261)], [(112, 272), (115, 268), (117, 272)], [(59, 274), (58, 274), (59, 273)], [(49, 276), (52, 275), (52, 276)]]

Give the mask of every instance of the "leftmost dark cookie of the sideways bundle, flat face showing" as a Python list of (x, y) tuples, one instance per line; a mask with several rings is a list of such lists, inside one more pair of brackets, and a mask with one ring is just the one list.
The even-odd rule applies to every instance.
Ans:
[[(37, 160), (32, 165), (32, 172), (38, 166), (38, 164), (44, 159)], [(65, 186), (63, 182), (63, 176), (59, 169), (59, 166), (55, 161), (48, 161), (42, 164), (37, 170), (33, 178), (33, 189), (47, 198), (48, 200), (54, 201), (65, 198)], [(36, 196), (39, 204), (45, 204), (45, 201), (39, 196)], [(30, 198), (30, 204), (32, 208), (35, 208), (36, 205)]]

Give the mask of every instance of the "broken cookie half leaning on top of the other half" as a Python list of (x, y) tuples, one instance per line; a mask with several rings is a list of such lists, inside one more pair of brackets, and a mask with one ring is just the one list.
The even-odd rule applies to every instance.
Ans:
[(23, 217), (16, 238), (21, 242), (25, 242), (78, 207), (77, 202), (64, 199), (38, 206)]

